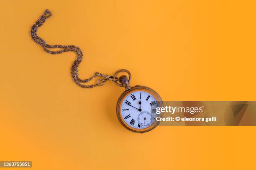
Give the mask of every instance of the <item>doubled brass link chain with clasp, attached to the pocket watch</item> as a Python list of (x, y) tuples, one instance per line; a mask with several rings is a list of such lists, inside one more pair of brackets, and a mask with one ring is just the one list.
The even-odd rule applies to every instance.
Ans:
[[(74, 45), (49, 45), (41, 37), (38, 37), (38, 35), (36, 33), (38, 28), (41, 27), (43, 25), (43, 23), (46, 21), (46, 19), (51, 16), (52, 16), (51, 11), (45, 10), (44, 14), (41, 15), (41, 17), (36, 21), (36, 24), (34, 24), (32, 26), (30, 35), (31, 35), (33, 41), (35, 41), (38, 45), (41, 45), (44, 48), (44, 51), (48, 52), (49, 54), (61, 54), (62, 52), (68, 52), (68, 51), (72, 51), (72, 52), (76, 53), (76, 55), (77, 55), (76, 60), (73, 62), (72, 67), (71, 67), (71, 76), (72, 76), (72, 80), (79, 87), (92, 88), (92, 87), (104, 85), (106, 80), (111, 80), (114, 82), (116, 82), (118, 80), (118, 78), (114, 79), (113, 76), (104, 75), (99, 72), (95, 72), (95, 74), (88, 79), (84, 79), (84, 80), (80, 79), (78, 77), (78, 67), (83, 60), (82, 50), (79, 47), (74, 46)], [(51, 50), (48, 50), (48, 48), (61, 48), (62, 50), (51, 51)], [(105, 79), (98, 79), (97, 83), (92, 84), (92, 85), (81, 84), (81, 83), (89, 82), (90, 80), (94, 79), (95, 77), (104, 77)]]

